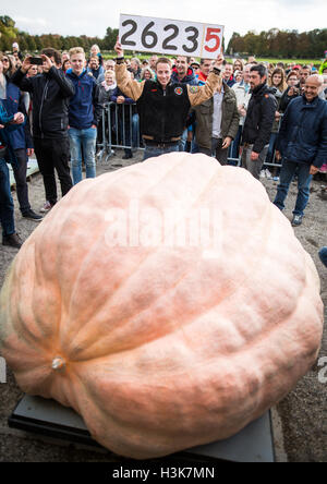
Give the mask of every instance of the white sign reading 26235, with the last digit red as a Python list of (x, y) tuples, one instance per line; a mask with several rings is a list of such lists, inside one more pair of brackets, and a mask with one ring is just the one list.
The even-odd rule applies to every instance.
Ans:
[(123, 49), (216, 59), (222, 51), (222, 25), (120, 15)]

